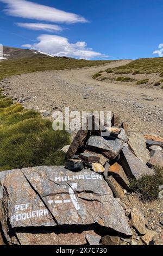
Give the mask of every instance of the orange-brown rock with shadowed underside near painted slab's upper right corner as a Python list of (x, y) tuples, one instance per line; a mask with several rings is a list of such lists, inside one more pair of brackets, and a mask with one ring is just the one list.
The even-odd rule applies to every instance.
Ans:
[(126, 173), (123, 170), (123, 167), (118, 163), (112, 164), (109, 168), (109, 174), (111, 174), (115, 180), (126, 190), (129, 190), (129, 180)]

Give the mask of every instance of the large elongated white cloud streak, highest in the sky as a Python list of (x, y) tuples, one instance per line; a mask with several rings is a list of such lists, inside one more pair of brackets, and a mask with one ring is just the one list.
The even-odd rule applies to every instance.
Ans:
[(0, 2), (7, 4), (5, 13), (15, 17), (59, 23), (87, 22), (84, 17), (77, 14), (26, 0), (0, 0)]

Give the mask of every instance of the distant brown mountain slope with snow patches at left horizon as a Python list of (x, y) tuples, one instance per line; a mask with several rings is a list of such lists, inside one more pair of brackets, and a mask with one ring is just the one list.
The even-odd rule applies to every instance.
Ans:
[(43, 52), (29, 50), (29, 49), (22, 49), (22, 48), (14, 48), (14, 47), (3, 47), (3, 58), (1, 60), (9, 60), (9, 59), (23, 59), (23, 58), (32, 58), (32, 57), (53, 57), (50, 54), (46, 54)]

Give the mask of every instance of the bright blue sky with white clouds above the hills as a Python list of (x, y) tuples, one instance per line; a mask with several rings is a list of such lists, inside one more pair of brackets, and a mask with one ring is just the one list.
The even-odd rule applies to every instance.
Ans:
[(163, 57), (162, 14), (162, 0), (0, 0), (0, 43), (87, 59)]

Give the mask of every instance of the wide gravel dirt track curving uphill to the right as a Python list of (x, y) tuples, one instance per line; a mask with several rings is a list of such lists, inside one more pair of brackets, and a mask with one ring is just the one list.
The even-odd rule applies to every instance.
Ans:
[(5, 93), (23, 102), (27, 108), (39, 111), (110, 110), (120, 113), (130, 131), (152, 132), (163, 136), (163, 90), (115, 84), (92, 79), (98, 71), (126, 65), (121, 60), (103, 66), (83, 69), (41, 71), (7, 78), (1, 83)]

